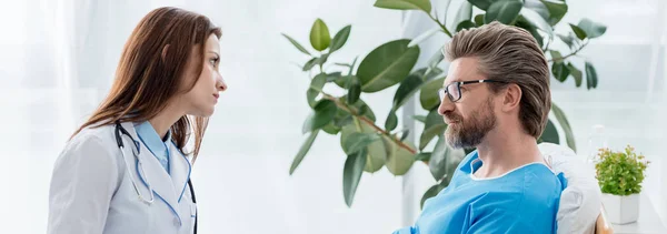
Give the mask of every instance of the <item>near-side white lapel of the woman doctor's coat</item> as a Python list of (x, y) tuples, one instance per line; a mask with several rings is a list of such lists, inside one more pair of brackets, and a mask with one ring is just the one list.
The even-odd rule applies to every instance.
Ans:
[[(139, 136), (137, 135), (137, 131), (135, 130), (132, 123), (122, 123), (122, 126), (126, 130), (128, 130), (128, 132), (130, 133), (130, 135), (132, 135), (135, 141), (138, 141)], [(169, 176), (167, 171), (165, 171), (165, 167), (162, 167), (158, 159), (156, 159), (156, 156), (150, 153), (148, 147), (141, 142), (138, 142), (138, 145), (139, 160), (135, 160), (135, 170), (136, 173), (139, 175), (139, 180), (145, 186), (152, 189), (156, 196), (156, 202), (166, 203), (167, 206), (169, 206), (169, 208), (171, 210), (171, 213), (173, 213), (173, 215), (176, 215), (176, 217), (178, 218), (179, 224), (182, 224), (181, 217), (177, 212), (177, 191), (179, 192), (178, 195), (180, 195), (180, 187), (178, 190), (175, 189), (171, 177)], [(173, 155), (173, 153), (171, 152), (170, 154)]]

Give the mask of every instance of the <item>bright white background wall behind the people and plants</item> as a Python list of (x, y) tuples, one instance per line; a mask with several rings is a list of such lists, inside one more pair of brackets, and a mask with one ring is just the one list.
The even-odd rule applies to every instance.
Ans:
[[(452, 4), (460, 0), (454, 0)], [(222, 27), (221, 72), (229, 84), (212, 118), (193, 171), (202, 233), (390, 233), (402, 224), (401, 179), (386, 170), (365, 174), (352, 208), (342, 199), (345, 155), (338, 138), (320, 134), (292, 176), (292, 156), (305, 135), (308, 77), (292, 63), (307, 59), (280, 35), (308, 44), (312, 21), (321, 18), (331, 34), (351, 23), (348, 43), (331, 60), (349, 62), (377, 45), (412, 37), (418, 18), (377, 9), (374, 0), (245, 1), (0, 1), (0, 134), (6, 163), (0, 177), (3, 233), (44, 233), (52, 163), (69, 134), (108, 91), (125, 40), (149, 10), (185, 6)], [(646, 193), (663, 217), (667, 192), (661, 169), (665, 138), (664, 3), (658, 0), (573, 1), (576, 23), (583, 16), (609, 27), (584, 51), (600, 77), (596, 91), (554, 84), (554, 100), (566, 111), (580, 150), (589, 126), (604, 123), (610, 144), (633, 144), (655, 163)], [(604, 7), (600, 7), (603, 6)], [(74, 8), (76, 7), (76, 8)], [(633, 11), (628, 9), (635, 9)], [(661, 10), (663, 9), (663, 10)], [(420, 13), (419, 13), (420, 14)], [(418, 21), (417, 21), (418, 22)], [(647, 23), (663, 22), (663, 23)], [(640, 27), (636, 27), (636, 26)], [(425, 28), (430, 28), (424, 26)], [(656, 43), (656, 41), (660, 43)], [(425, 42), (439, 47), (444, 38)], [(657, 44), (657, 45), (656, 45)], [(422, 49), (422, 58), (431, 50)], [(429, 54), (426, 54), (429, 53)], [(657, 58), (657, 59), (656, 59)], [(427, 58), (428, 59), (428, 58)], [(651, 61), (658, 61), (656, 70)], [(653, 72), (651, 72), (653, 71)], [(651, 74), (655, 82), (650, 82)], [(647, 98), (649, 90), (653, 94)], [(336, 90), (331, 90), (336, 91)], [(259, 98), (259, 94), (265, 96)], [(364, 95), (379, 124), (394, 90)], [(418, 125), (419, 128), (419, 125)], [(412, 196), (418, 204), (432, 179), (419, 163)], [(418, 214), (418, 211), (417, 213)], [(9, 218), (7, 218), (9, 217)]]

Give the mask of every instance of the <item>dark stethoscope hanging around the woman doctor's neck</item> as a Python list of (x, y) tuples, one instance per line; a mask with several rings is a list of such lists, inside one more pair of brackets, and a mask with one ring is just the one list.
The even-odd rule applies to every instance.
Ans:
[[(120, 152), (122, 153), (123, 156), (123, 162), (126, 163), (126, 171), (128, 171), (128, 173), (130, 173), (130, 166), (128, 165), (128, 161), (125, 160), (125, 157), (127, 157), (126, 152), (125, 152), (125, 143), (122, 141), (122, 136), (127, 135), (128, 138), (130, 138), (130, 140), (132, 142), (135, 142), (135, 147), (132, 147), (132, 154), (135, 155), (135, 159), (137, 160), (137, 167), (139, 170), (141, 170), (141, 173), (146, 176), (146, 173), (143, 172), (143, 165), (141, 164), (141, 160), (139, 159), (139, 142), (135, 141), (135, 138), (132, 138), (132, 135), (130, 135), (130, 133), (122, 128), (122, 125), (120, 125), (120, 122), (116, 122), (116, 142), (118, 143), (118, 149), (120, 149)], [(132, 186), (135, 187), (135, 192), (137, 193), (137, 195), (139, 196), (139, 201), (151, 205), (155, 201), (155, 194), (153, 194), (153, 190), (152, 186), (149, 183), (148, 177), (146, 179), (146, 184), (148, 186), (148, 191), (150, 191), (150, 199), (146, 199), (143, 196), (143, 194), (141, 194), (141, 191), (139, 190), (139, 186), (137, 186), (137, 183), (135, 182), (135, 180), (132, 180), (132, 175), (130, 174), (130, 182), (132, 182)], [(190, 187), (190, 194), (192, 195), (192, 203), (197, 203), (197, 199), (195, 199), (195, 189), (192, 189), (192, 181), (190, 179), (188, 179), (188, 186)], [(197, 214), (198, 212), (195, 212), (195, 234), (197, 234), (197, 220), (199, 220), (199, 215)]]

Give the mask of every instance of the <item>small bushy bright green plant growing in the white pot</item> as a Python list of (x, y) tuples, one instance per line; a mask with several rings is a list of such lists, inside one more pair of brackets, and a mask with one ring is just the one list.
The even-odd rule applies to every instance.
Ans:
[(643, 154), (628, 145), (618, 152), (600, 149), (595, 169), (603, 193), (625, 196), (641, 192), (644, 172), (649, 164)]

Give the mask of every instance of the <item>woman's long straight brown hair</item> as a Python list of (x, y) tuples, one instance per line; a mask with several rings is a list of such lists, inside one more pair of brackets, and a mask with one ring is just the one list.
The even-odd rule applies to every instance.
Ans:
[[(209, 18), (179, 8), (158, 8), (149, 12), (135, 28), (125, 44), (111, 91), (90, 119), (73, 135), (87, 126), (115, 122), (148, 121), (160, 113), (188, 81), (181, 79), (192, 47), (201, 49), (195, 59), (197, 78), (202, 70), (205, 42), (209, 35), (221, 37), (220, 28)], [(195, 87), (195, 82), (188, 90)], [(208, 118), (195, 118), (195, 124), (183, 115), (171, 125), (176, 146), (183, 152), (190, 131), (195, 134), (193, 161), (199, 154)], [(73, 136), (72, 135), (72, 136)], [(185, 153), (185, 152), (183, 152)], [(190, 154), (190, 153), (187, 153)]]

